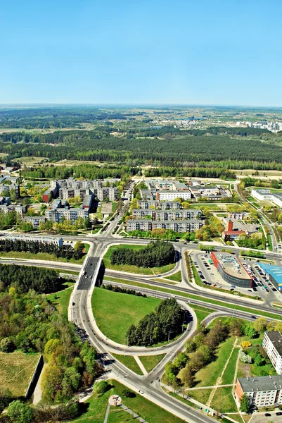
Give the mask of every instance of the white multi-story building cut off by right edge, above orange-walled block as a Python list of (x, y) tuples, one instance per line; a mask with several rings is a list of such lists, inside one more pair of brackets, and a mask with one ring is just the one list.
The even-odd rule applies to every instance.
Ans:
[(262, 347), (269, 356), (274, 369), (282, 374), (282, 335), (279, 331), (264, 332)]

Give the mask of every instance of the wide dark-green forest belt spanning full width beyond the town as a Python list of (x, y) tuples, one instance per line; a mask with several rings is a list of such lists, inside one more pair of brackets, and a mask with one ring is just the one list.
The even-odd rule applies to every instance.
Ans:
[(48, 134), (4, 133), (0, 135), (0, 152), (8, 154), (8, 161), (33, 156), (51, 161), (77, 159), (129, 166), (148, 163), (184, 168), (282, 169), (281, 133), (255, 128), (154, 131), (124, 132), (117, 137), (105, 126)]

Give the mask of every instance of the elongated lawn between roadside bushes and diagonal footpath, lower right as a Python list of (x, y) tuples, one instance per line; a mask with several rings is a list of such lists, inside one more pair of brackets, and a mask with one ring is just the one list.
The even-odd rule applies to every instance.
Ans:
[(196, 386), (213, 386), (222, 374), (222, 369), (231, 353), (235, 338), (231, 336), (217, 348), (217, 358), (199, 370), (195, 375)]

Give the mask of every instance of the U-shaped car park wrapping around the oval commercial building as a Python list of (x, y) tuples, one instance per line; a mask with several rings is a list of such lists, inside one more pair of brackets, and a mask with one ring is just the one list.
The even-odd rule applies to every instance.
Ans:
[(214, 266), (210, 258), (210, 253), (205, 253), (203, 251), (193, 252), (191, 254), (191, 259), (203, 282), (203, 287), (213, 286), (214, 288), (222, 288), (224, 290), (230, 290), (231, 292), (248, 294), (253, 297), (258, 295), (269, 305), (271, 305), (273, 301), (281, 301), (281, 294), (279, 294), (277, 289), (269, 282), (267, 276), (264, 276), (255, 260), (241, 259), (241, 263), (253, 279), (253, 286), (252, 288), (240, 288), (224, 281)]

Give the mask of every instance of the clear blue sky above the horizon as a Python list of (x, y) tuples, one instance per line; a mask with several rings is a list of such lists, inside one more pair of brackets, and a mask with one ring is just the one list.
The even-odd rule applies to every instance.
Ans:
[(0, 16), (0, 104), (282, 106), (281, 0), (9, 0)]

